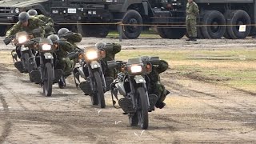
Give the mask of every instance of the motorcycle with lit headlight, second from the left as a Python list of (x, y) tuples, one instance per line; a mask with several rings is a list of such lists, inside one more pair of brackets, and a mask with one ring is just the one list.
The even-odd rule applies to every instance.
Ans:
[(32, 78), (42, 85), (43, 94), (51, 96), (53, 84), (59, 82), (63, 73), (61, 69), (54, 69), (57, 58), (54, 51), (58, 50), (58, 43), (53, 43), (50, 38), (34, 38), (31, 42), (38, 51), (35, 58), (38, 70), (31, 71)]

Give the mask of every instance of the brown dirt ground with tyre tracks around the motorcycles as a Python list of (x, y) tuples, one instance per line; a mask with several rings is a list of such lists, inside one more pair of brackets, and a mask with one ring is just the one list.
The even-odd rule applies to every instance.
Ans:
[[(2, 38), (0, 38), (2, 42)], [(84, 38), (79, 46), (112, 38)], [(243, 40), (122, 40), (123, 49), (236, 50), (255, 49), (255, 39)], [(1, 52), (12, 46), (0, 44)], [(11, 57), (11, 56), (10, 56)], [(106, 109), (91, 106), (72, 78), (64, 90), (54, 85), (46, 98), (42, 87), (20, 74), (11, 59), (0, 60), (0, 143), (255, 143), (256, 95), (174, 74), (162, 74), (171, 94), (167, 106), (150, 113), (148, 130), (130, 127), (122, 110), (114, 109), (106, 93)], [(256, 86), (255, 86), (256, 87)]]

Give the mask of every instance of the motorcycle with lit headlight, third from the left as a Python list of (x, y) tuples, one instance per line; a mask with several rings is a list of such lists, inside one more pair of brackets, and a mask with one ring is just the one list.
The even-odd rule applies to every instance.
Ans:
[[(84, 53), (80, 53), (79, 66), (74, 68), (74, 82), (78, 90), (82, 90), (86, 95), (90, 95), (93, 105), (106, 107), (104, 93), (110, 90), (110, 83), (113, 78), (104, 76), (102, 72), (102, 58), (106, 52), (98, 50), (96, 47), (86, 47)], [(85, 81), (81, 82), (80, 77)]]

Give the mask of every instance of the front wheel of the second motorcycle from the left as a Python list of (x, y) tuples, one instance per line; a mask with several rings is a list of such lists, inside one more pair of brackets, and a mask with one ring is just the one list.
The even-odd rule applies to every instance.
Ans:
[(43, 93), (48, 97), (51, 96), (52, 93), (53, 80), (53, 67), (51, 66), (51, 63), (47, 62), (44, 69)]

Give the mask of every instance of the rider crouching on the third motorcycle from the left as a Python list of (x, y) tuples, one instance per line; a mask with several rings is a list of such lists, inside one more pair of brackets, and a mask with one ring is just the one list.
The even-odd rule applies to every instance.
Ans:
[(98, 49), (102, 49), (106, 51), (106, 57), (102, 58), (102, 70), (104, 70), (105, 77), (112, 77), (117, 78), (118, 70), (116, 69), (109, 69), (107, 66), (107, 61), (113, 61), (115, 54), (121, 51), (121, 45), (113, 42), (113, 43), (106, 43), (106, 42), (97, 42), (95, 46)]

